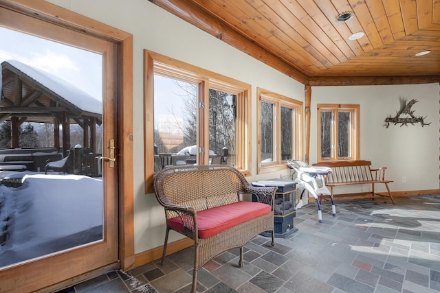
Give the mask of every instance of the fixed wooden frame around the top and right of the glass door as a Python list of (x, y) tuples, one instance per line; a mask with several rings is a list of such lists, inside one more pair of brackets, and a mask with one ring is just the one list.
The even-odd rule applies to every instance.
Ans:
[[(44, 0), (0, 0), (0, 7), (41, 19), (70, 30), (103, 38), (118, 46), (118, 233), (119, 261), (115, 266), (135, 266), (133, 218), (133, 35), (76, 14)], [(123, 113), (123, 115), (122, 115)], [(104, 143), (104, 147), (105, 147)], [(75, 277), (78, 283), (93, 273)], [(69, 281), (67, 281), (69, 283)]]

